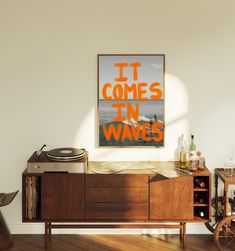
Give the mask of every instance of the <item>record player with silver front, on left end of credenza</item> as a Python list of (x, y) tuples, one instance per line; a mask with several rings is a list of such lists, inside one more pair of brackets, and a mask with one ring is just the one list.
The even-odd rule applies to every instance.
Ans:
[(78, 148), (56, 148), (35, 151), (27, 162), (28, 173), (66, 172), (85, 173), (88, 152)]

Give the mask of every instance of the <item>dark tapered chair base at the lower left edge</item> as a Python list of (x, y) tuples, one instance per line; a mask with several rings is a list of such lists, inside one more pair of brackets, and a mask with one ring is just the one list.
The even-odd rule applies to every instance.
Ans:
[(13, 245), (11, 233), (0, 211), (0, 249), (6, 249)]

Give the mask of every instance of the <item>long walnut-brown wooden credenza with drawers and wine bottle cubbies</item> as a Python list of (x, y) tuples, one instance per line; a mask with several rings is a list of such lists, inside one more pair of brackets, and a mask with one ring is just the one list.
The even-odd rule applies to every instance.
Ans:
[[(52, 228), (167, 227), (179, 228), (184, 244), (186, 222), (210, 220), (211, 174), (207, 169), (170, 179), (150, 170), (117, 174), (25, 171), (22, 177), (23, 222), (44, 222), (46, 240)], [(205, 182), (204, 188), (195, 185), (197, 178)], [(196, 193), (204, 198), (203, 203), (195, 201)], [(79, 224), (60, 225), (62, 222)]]

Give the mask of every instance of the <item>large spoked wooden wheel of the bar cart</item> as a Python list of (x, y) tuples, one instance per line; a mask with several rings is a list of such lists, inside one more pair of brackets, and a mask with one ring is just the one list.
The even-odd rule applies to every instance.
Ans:
[(235, 215), (227, 216), (218, 223), (214, 232), (214, 239), (220, 250), (234, 250)]

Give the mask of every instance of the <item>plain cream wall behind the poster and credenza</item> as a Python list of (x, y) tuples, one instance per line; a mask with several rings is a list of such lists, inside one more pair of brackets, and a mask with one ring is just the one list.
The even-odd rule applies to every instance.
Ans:
[[(0, 1), (0, 192), (21, 190), (26, 161), (44, 143), (86, 147), (94, 160), (166, 160), (179, 135), (193, 132), (211, 171), (221, 165), (235, 144), (234, 8), (233, 0)], [(96, 148), (98, 53), (166, 54), (165, 148)], [(2, 212), (14, 233), (43, 231), (21, 223), (21, 194)]]

